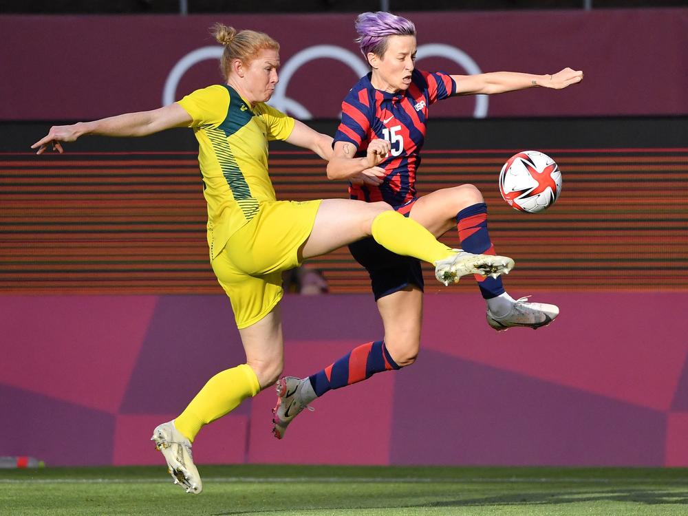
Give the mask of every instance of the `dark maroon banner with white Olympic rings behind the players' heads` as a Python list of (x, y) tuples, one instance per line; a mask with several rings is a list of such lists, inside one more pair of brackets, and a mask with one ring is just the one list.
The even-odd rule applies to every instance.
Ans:
[[(544, 74), (570, 66), (585, 72), (581, 86), (564, 92), (492, 96), (486, 116), (688, 114), (688, 74), (681, 65), (688, 58), (688, 8), (407, 16), (418, 28), (420, 68)], [(264, 30), (281, 43), (282, 80), (273, 105), (299, 118), (338, 118), (341, 100), (365, 72), (353, 20), (353, 14), (0, 15), (6, 42), (0, 46), (0, 120), (93, 119), (158, 107), (184, 56), (219, 48), (208, 35), (215, 21)], [(422, 50), (430, 44), (451, 52), (432, 56)], [(319, 54), (315, 45), (330, 47)], [(307, 48), (321, 57), (298, 65), (295, 56)], [(215, 58), (195, 62), (171, 98), (218, 80)], [(440, 103), (433, 116), (473, 116), (477, 102)]]

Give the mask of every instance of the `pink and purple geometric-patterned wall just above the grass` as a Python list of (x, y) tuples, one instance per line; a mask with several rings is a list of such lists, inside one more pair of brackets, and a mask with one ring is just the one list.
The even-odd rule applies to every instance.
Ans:
[[(477, 294), (429, 289), (415, 365), (328, 393), (281, 442), (268, 389), (205, 427), (197, 461), (688, 466), (688, 294), (535, 299), (559, 319), (497, 334)], [(283, 312), (287, 374), (381, 337), (367, 295)], [(0, 455), (50, 465), (159, 464), (153, 427), (243, 358), (222, 295), (0, 296), (0, 314)]]

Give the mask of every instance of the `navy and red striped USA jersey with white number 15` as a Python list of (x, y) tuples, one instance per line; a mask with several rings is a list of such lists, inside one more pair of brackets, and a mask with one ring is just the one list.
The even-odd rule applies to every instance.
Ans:
[(416, 170), (425, 140), (428, 107), (455, 94), (456, 84), (443, 72), (414, 69), (405, 92), (382, 92), (370, 83), (371, 74), (361, 78), (342, 103), (342, 121), (334, 142), (350, 142), (356, 157), (365, 156), (371, 140), (391, 142), (391, 153), (380, 165), (387, 171), (378, 186), (349, 184), (352, 199), (385, 201), (401, 206), (416, 197)]

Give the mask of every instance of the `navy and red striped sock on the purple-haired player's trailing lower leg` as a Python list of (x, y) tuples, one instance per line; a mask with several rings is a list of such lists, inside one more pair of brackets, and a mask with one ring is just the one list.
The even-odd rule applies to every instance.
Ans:
[(330, 389), (361, 382), (376, 373), (400, 369), (389, 356), (384, 341), (369, 342), (354, 348), (338, 361), (310, 376), (316, 396)]

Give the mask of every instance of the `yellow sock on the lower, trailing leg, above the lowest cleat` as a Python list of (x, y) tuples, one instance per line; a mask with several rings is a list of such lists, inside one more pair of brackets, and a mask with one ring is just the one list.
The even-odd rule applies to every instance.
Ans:
[(204, 424), (222, 418), (239, 403), (260, 391), (258, 377), (248, 364), (217, 373), (191, 400), (174, 426), (191, 442)]

